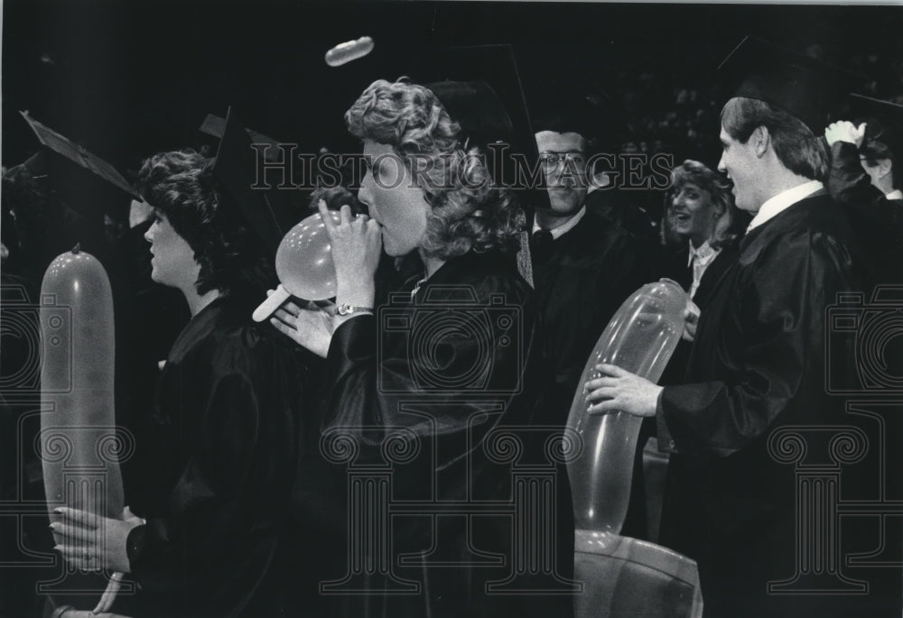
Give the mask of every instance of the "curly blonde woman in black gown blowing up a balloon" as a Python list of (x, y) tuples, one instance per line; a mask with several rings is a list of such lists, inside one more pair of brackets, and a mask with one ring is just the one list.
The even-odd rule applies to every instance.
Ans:
[[(336, 221), (321, 204), (337, 277), (335, 315), (324, 320), (322, 311), (290, 302), (273, 318), (327, 359), (324, 445), (341, 436), (354, 445), (355, 465), (392, 464), (393, 500), (448, 511), (406, 518), (403, 526), (377, 523), (371, 533), (386, 537), (368, 549), (357, 548), (358, 532), (349, 530), (352, 558), (391, 565), (393, 573), (365, 567), (348, 589), (371, 594), (346, 595), (336, 615), (534, 615), (540, 606), (563, 615), (550, 610), (561, 603), (548, 596), (486, 592), (511, 575), (510, 521), (504, 528), (465, 514), (473, 501), (510, 500), (510, 469), (489, 461), (488, 435), (529, 421), (535, 316), (514, 257), (524, 215), (511, 192), (490, 186), (475, 140), (435, 89), (379, 80), (348, 110), (349, 131), (368, 160), (358, 199), (369, 217), (342, 208)], [(459, 114), (501, 107), (488, 88), (444, 82), (442, 92), (461, 96)], [(424, 272), (376, 311), (380, 248), (419, 254)], [(507, 558), (487, 567), (478, 550)], [(397, 594), (414, 582), (419, 592)]]

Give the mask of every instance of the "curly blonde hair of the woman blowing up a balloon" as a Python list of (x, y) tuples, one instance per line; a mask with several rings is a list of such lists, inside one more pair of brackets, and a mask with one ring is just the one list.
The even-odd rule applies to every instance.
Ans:
[(423, 189), (432, 207), (425, 254), (517, 251), (523, 211), (510, 190), (493, 186), (485, 153), (461, 143), (461, 125), (432, 90), (407, 78), (378, 79), (345, 112), (345, 122), (358, 139), (391, 146)]

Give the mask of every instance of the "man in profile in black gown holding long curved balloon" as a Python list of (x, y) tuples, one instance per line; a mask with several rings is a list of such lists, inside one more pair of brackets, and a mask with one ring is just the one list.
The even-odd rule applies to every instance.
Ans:
[(825, 388), (826, 307), (860, 289), (854, 240), (821, 182), (824, 99), (806, 94), (824, 69), (751, 39), (724, 66), (742, 81), (721, 112), (719, 169), (756, 216), (699, 318), (684, 384), (602, 365), (592, 410), (657, 414), (670, 430), (661, 542), (697, 561), (705, 616), (859, 615), (861, 598), (769, 588), (795, 575), (796, 533), (815, 530), (796, 521), (795, 469), (779, 461), (798, 443), (776, 432), (841, 419)]

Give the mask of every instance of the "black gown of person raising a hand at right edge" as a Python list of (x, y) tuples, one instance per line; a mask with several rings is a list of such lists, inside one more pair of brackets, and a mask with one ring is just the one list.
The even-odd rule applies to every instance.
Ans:
[(903, 283), (903, 199), (888, 199), (873, 186), (856, 146), (846, 142), (831, 148), (828, 189), (867, 250), (870, 282)]

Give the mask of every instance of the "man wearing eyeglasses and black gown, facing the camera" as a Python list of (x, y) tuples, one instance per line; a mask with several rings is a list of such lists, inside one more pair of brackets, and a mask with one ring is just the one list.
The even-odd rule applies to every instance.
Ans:
[[(550, 87), (528, 100), (549, 194), (548, 208), (535, 210), (530, 244), (551, 382), (537, 412), (546, 425), (564, 425), (596, 340), (621, 303), (651, 277), (638, 240), (587, 208), (587, 161), (606, 136), (600, 134), (600, 110), (581, 95)], [(645, 538), (645, 509), (637, 500), (642, 486), (635, 486), (624, 533)]]

